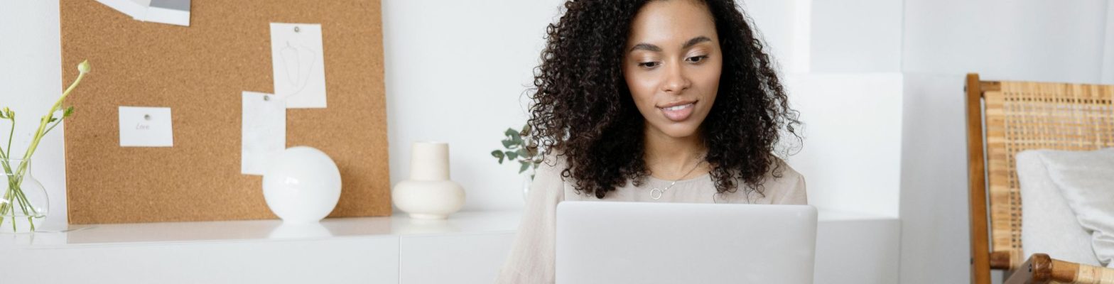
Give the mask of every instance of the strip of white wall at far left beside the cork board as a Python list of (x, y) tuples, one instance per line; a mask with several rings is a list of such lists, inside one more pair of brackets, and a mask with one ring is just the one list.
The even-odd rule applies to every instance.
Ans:
[[(19, 125), (13, 135), (12, 153), (20, 156), (31, 143), (39, 118), (66, 87), (61, 79), (58, 25), (58, 1), (0, 1), (0, 107), (17, 112)], [(77, 72), (77, 66), (66, 71)], [(72, 95), (84, 94), (78, 88)], [(8, 121), (0, 123), (3, 131), (0, 137), (8, 137)], [(42, 183), (50, 196), (46, 229), (66, 225), (62, 128), (55, 128), (39, 143), (31, 165), (31, 176)]]

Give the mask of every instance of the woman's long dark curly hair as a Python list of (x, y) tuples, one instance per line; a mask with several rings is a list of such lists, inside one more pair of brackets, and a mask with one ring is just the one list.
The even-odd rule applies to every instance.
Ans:
[[(627, 180), (649, 174), (644, 155), (645, 119), (622, 71), (624, 46), (638, 10), (654, 0), (571, 0), (546, 29), (541, 65), (535, 69), (528, 139), (543, 155), (557, 153), (577, 190), (604, 198)], [(763, 177), (781, 177), (774, 155), (781, 135), (799, 145), (799, 114), (789, 107), (763, 43), (733, 0), (703, 0), (723, 50), (719, 95), (700, 127), (716, 190), (764, 195)], [(786, 155), (790, 150), (785, 150)], [(737, 185), (739, 187), (743, 185)]]

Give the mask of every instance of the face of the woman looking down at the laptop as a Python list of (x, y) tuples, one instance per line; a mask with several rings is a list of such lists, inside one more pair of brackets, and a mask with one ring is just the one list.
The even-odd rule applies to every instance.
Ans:
[(712, 19), (694, 0), (651, 1), (635, 16), (623, 77), (647, 131), (688, 137), (707, 117), (723, 67)]

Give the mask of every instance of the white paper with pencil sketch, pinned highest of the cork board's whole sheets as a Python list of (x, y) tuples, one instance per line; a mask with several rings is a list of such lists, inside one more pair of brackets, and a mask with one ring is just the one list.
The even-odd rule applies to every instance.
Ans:
[(325, 107), (325, 62), (320, 23), (271, 23), (275, 95), (287, 108)]

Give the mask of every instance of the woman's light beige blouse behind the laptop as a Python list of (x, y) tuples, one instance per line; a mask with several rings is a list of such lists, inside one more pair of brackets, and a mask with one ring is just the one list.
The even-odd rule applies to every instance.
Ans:
[(651, 189), (665, 188), (673, 180), (646, 177), (642, 186), (627, 182), (599, 199), (594, 194), (577, 192), (573, 182), (564, 180), (560, 176), (566, 168), (564, 157), (547, 156), (545, 160), (534, 177), (518, 235), (496, 283), (554, 283), (557, 204), (563, 200), (794, 205), (803, 205), (808, 200), (804, 177), (780, 159), (776, 163), (781, 164), (781, 177), (774, 178), (768, 173), (763, 183), (764, 194), (745, 193), (742, 188), (720, 194), (711, 175), (704, 174), (678, 180), (658, 199), (651, 198)]

